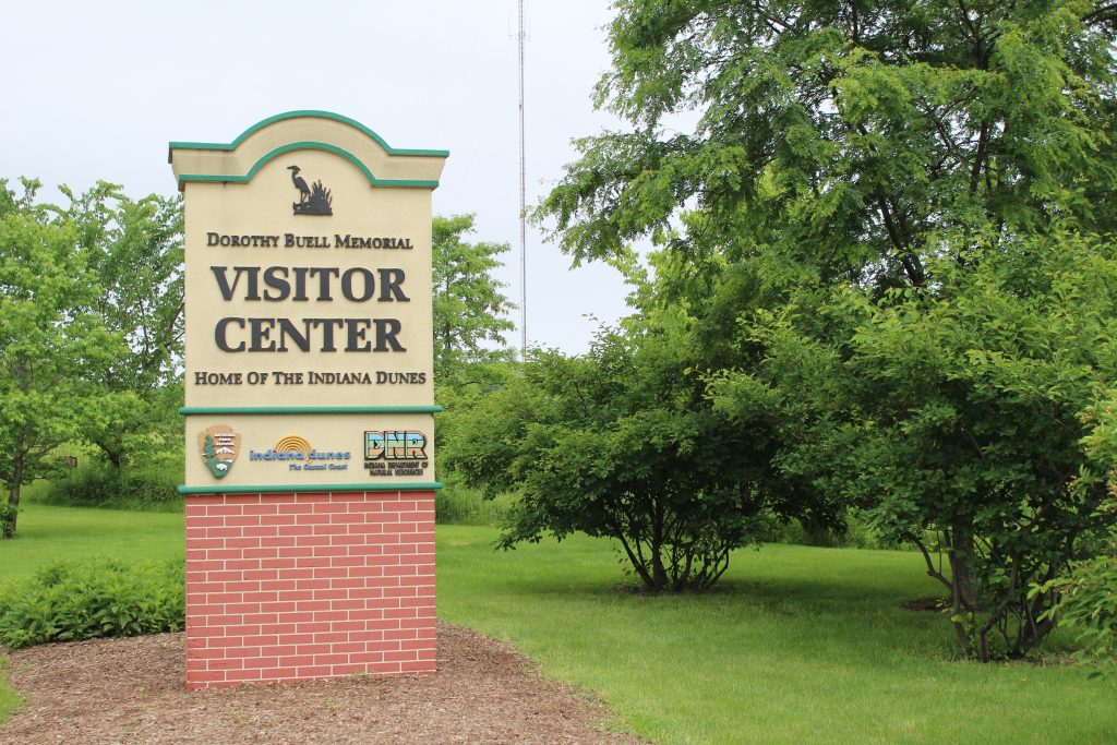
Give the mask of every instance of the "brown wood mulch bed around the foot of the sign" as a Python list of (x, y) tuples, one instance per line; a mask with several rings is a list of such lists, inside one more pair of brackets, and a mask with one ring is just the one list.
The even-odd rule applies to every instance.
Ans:
[(0, 742), (637, 743), (600, 703), (544, 679), (509, 644), (439, 623), (433, 676), (188, 691), (181, 633), (8, 652), (27, 703)]

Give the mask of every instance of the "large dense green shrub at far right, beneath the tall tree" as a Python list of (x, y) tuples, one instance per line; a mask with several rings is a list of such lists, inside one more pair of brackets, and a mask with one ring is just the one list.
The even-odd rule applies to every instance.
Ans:
[(928, 261), (934, 292), (756, 314), (763, 361), (713, 385), (743, 427), (776, 422), (784, 471), (923, 552), (982, 660), (1042, 641), (1057, 598), (1032, 586), (1105, 536), (1113, 460), (1082, 440), (1117, 376), (1117, 243), (1056, 233), (987, 259)]

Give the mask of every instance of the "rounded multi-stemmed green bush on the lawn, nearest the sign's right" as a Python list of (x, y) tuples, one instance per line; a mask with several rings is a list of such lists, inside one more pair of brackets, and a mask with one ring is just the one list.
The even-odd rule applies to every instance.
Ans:
[(645, 589), (674, 592), (713, 586), (771, 516), (832, 524), (772, 472), (766, 440), (706, 401), (689, 321), (648, 308), (599, 331), (585, 354), (531, 351), (521, 378), (460, 416), (443, 462), (490, 496), (522, 495), (502, 547), (608, 536)]

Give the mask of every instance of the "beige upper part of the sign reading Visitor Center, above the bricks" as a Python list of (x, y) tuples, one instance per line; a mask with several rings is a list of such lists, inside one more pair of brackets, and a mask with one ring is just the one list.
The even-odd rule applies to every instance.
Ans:
[[(445, 159), (325, 112), (274, 116), (229, 144), (171, 143), (185, 194), (185, 491), (297, 489), (308, 474), (383, 486), (355, 455), (365, 431), (420, 432), (430, 455)], [(251, 458), (285, 437), (351, 462)], [(418, 462), (388, 469), (391, 484), (433, 481), (432, 460)]]

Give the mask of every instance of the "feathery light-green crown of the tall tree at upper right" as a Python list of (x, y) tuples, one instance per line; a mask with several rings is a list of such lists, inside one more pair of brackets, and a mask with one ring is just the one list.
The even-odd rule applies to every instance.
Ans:
[(776, 254), (825, 280), (913, 286), (943, 230), (1115, 225), (1106, 3), (615, 9), (598, 102), (633, 130), (580, 141), (538, 211), (575, 259), (650, 235), (693, 254)]

